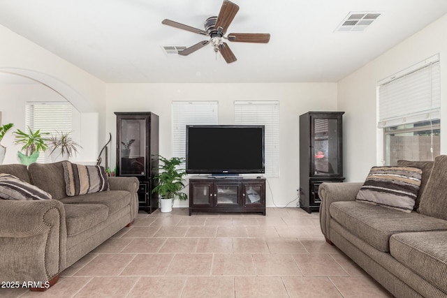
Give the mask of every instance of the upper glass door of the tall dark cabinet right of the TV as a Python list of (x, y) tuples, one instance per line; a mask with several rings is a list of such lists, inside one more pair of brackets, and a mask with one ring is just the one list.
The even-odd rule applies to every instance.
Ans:
[(336, 176), (339, 174), (339, 121), (314, 118), (314, 174)]

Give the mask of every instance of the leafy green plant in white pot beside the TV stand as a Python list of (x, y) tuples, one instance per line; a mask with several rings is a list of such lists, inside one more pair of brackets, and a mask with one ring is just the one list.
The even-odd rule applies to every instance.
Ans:
[(186, 193), (182, 193), (186, 171), (180, 167), (185, 158), (173, 157), (164, 158), (159, 156), (159, 174), (155, 179), (159, 179), (159, 185), (154, 187), (152, 193), (159, 193), (161, 212), (173, 210), (174, 200), (188, 200)]

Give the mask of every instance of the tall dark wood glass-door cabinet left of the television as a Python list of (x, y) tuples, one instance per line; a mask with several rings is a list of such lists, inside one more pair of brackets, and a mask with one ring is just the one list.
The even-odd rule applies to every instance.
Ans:
[(115, 112), (117, 115), (117, 176), (140, 181), (139, 209), (152, 213), (159, 207), (159, 116), (152, 112)]

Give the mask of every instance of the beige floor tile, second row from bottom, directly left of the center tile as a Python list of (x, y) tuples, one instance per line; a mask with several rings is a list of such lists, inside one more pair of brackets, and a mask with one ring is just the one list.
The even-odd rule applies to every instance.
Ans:
[(210, 276), (211, 253), (179, 253), (170, 263), (166, 276)]

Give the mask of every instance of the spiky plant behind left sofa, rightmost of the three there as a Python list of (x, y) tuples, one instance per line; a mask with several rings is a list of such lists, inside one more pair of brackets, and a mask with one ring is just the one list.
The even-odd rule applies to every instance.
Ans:
[(71, 158), (74, 154), (78, 153), (78, 148), (82, 148), (80, 144), (73, 141), (71, 138), (71, 132), (64, 133), (57, 131), (52, 134), (50, 140), (48, 141), (48, 147), (50, 151), (50, 159), (52, 162), (58, 161), (59, 159)]

